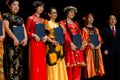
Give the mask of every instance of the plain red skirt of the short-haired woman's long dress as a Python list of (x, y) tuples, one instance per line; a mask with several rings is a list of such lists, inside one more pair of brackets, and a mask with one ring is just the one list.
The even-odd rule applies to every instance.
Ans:
[(46, 80), (46, 48), (44, 42), (30, 41), (30, 80)]

